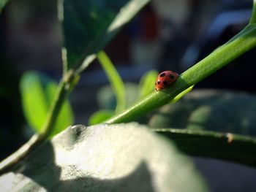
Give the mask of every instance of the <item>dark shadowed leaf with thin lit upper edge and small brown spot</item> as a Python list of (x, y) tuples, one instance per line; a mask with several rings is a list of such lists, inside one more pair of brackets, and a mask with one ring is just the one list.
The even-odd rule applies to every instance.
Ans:
[(188, 155), (219, 158), (256, 166), (256, 139), (238, 134), (176, 128), (152, 128), (176, 143)]

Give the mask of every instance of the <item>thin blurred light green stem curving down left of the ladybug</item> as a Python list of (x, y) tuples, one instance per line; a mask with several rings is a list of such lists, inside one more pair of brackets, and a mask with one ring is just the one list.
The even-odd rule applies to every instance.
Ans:
[(97, 53), (97, 58), (116, 95), (116, 112), (120, 112), (121, 110), (124, 110), (126, 106), (124, 82), (121, 80), (115, 66), (113, 66), (110, 58), (108, 58), (108, 55), (104, 51), (99, 51), (99, 53)]

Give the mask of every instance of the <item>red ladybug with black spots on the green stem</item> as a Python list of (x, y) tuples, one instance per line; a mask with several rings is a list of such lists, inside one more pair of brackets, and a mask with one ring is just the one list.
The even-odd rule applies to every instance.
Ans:
[(178, 73), (172, 71), (165, 71), (159, 73), (157, 81), (155, 83), (156, 91), (167, 88), (169, 85), (173, 84), (178, 78)]

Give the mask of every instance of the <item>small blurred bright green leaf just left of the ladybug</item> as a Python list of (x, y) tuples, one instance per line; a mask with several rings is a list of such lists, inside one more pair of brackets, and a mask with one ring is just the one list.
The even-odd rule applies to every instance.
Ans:
[(157, 70), (150, 70), (146, 72), (146, 74), (143, 74), (143, 76), (140, 78), (139, 83), (139, 99), (142, 99), (143, 97), (154, 91), (154, 83), (157, 80), (157, 75)]

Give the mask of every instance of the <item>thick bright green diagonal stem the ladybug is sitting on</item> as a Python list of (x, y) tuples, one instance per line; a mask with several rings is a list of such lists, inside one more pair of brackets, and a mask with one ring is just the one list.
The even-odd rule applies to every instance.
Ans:
[(146, 114), (146, 112), (169, 103), (178, 93), (217, 72), (217, 70), (230, 63), (230, 61), (233, 61), (255, 46), (256, 25), (253, 24), (246, 26), (225, 45), (217, 48), (217, 50), (195, 64), (195, 66), (187, 69), (170, 88), (165, 89), (165, 91), (154, 91), (132, 107), (124, 110), (124, 112), (106, 120), (105, 123), (124, 123), (138, 119), (141, 115)]

